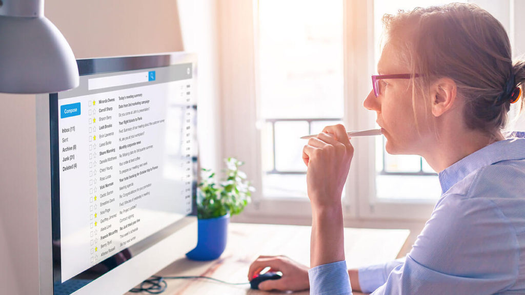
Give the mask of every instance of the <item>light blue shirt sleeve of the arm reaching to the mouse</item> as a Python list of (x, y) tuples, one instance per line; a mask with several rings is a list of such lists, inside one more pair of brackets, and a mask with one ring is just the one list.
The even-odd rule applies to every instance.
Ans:
[(361, 292), (372, 293), (375, 289), (381, 287), (386, 282), (390, 272), (397, 266), (403, 265), (404, 262), (405, 257), (386, 262), (385, 264), (371, 265), (358, 269)]

